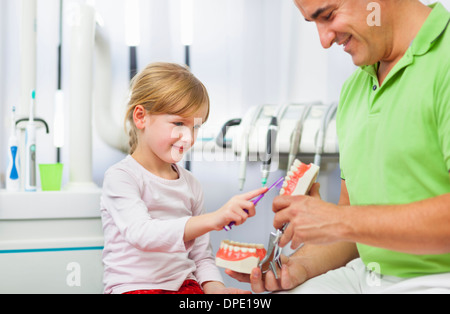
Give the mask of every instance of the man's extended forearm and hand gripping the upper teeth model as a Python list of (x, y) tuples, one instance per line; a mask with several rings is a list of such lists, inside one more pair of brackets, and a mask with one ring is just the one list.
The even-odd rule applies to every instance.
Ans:
[[(346, 190), (345, 182), (342, 186)], [(290, 222), (280, 245), (291, 240), (293, 247), (303, 242), (352, 242), (410, 254), (450, 252), (450, 193), (377, 206), (336, 206), (320, 198), (295, 196), (275, 200), (274, 210), (276, 228)]]

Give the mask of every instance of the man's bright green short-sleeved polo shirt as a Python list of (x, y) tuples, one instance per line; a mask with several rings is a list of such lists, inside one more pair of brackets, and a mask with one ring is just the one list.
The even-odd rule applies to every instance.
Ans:
[[(431, 7), (382, 86), (378, 65), (371, 65), (356, 70), (342, 89), (337, 132), (352, 205), (406, 204), (450, 193), (450, 13), (439, 3)], [(385, 275), (450, 272), (450, 254), (362, 244), (358, 250), (366, 265), (376, 263), (370, 267)]]

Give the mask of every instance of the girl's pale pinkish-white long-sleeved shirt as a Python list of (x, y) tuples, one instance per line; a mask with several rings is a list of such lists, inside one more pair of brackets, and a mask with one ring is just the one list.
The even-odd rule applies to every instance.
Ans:
[(166, 180), (127, 156), (105, 173), (105, 293), (178, 290), (186, 279), (223, 282), (209, 235), (183, 241), (186, 222), (204, 213), (203, 192), (191, 173), (174, 167), (179, 178)]

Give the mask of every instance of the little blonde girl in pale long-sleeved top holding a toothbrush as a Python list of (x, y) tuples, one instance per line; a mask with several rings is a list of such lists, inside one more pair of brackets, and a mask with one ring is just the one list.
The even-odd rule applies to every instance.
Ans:
[(105, 293), (244, 292), (223, 285), (208, 233), (254, 216), (249, 200), (266, 189), (205, 214), (199, 182), (176, 163), (208, 115), (208, 93), (186, 68), (155, 63), (134, 78), (125, 118), (130, 155), (103, 183)]

